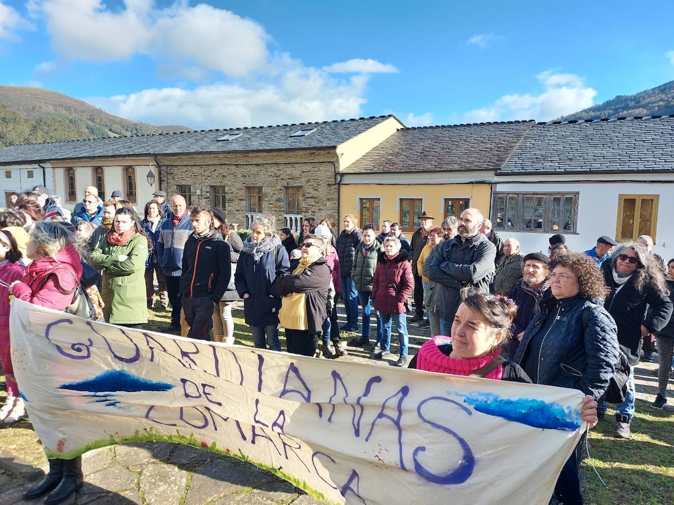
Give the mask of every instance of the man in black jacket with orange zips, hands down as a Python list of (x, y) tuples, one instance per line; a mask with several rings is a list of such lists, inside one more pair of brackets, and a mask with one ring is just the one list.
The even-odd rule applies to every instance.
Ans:
[(213, 327), (213, 304), (220, 302), (231, 277), (229, 245), (213, 229), (213, 214), (205, 207), (189, 213), (194, 232), (185, 243), (180, 294), (187, 336), (206, 340)]

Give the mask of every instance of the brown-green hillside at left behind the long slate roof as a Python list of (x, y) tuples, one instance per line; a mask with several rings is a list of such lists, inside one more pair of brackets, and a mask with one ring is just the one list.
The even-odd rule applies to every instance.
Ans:
[[(171, 126), (171, 131), (187, 127)], [(0, 147), (165, 130), (108, 114), (82, 100), (40, 88), (0, 86)]]

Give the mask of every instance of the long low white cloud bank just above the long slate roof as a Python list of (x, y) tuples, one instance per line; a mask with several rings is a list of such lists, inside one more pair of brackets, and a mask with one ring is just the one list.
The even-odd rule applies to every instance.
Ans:
[(366, 84), (367, 77), (361, 75), (338, 81), (319, 69), (301, 68), (254, 87), (214, 83), (87, 101), (111, 114), (154, 125), (245, 127), (359, 116)]

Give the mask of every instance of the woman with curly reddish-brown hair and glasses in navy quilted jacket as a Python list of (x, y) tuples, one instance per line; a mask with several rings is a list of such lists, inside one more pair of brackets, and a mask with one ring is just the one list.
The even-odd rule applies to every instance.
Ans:
[[(599, 400), (618, 360), (615, 322), (601, 302), (601, 271), (580, 253), (558, 257), (550, 267), (552, 298), (526, 327), (514, 362), (534, 384), (578, 389)], [(565, 463), (555, 494), (564, 504), (582, 504), (576, 452)]]

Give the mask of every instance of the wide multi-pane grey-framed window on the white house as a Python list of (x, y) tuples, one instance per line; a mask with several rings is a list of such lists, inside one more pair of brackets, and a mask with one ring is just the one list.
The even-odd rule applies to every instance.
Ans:
[(578, 193), (494, 193), (494, 230), (576, 233)]

